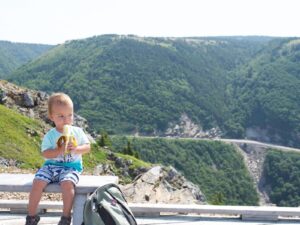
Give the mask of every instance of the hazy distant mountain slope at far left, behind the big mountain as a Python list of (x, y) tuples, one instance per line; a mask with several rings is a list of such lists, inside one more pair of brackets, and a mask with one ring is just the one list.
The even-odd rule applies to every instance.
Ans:
[(9, 77), (21, 65), (36, 59), (53, 46), (0, 41), (0, 79)]

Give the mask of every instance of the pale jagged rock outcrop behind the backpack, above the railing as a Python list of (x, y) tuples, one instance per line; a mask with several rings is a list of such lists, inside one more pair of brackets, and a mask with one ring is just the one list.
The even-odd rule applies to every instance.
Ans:
[(155, 166), (133, 183), (121, 187), (126, 199), (135, 203), (204, 204), (199, 188), (174, 168)]

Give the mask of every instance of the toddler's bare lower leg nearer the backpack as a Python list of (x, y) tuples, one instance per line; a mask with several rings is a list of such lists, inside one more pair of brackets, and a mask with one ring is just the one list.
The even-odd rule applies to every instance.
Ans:
[(75, 188), (72, 181), (62, 181), (61, 184), (63, 198), (63, 216), (70, 217), (75, 196)]

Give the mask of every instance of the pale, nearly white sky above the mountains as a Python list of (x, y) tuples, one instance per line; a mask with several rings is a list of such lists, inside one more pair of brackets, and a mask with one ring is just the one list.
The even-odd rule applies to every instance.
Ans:
[(101, 34), (300, 37), (299, 0), (0, 0), (0, 40), (59, 44)]

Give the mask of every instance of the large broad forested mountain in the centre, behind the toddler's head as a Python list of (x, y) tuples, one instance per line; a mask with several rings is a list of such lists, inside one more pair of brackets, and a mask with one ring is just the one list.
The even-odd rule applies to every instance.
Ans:
[(70, 94), (98, 131), (161, 134), (182, 114), (203, 129), (223, 128), (228, 72), (268, 40), (104, 35), (59, 45), (9, 80)]

